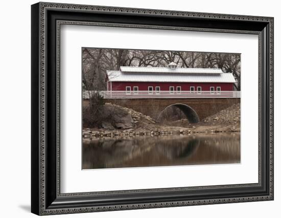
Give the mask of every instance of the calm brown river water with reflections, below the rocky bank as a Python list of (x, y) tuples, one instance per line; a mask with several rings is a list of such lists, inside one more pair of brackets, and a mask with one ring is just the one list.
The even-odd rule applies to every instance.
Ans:
[(95, 139), (84, 143), (82, 168), (240, 163), (240, 134)]

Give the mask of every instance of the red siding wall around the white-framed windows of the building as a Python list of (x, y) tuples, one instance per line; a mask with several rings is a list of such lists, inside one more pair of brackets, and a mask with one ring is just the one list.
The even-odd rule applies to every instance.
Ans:
[[(210, 82), (112, 82), (112, 91), (126, 91), (126, 86), (138, 86), (139, 91), (148, 91), (148, 86), (153, 86), (153, 91), (155, 91), (155, 86), (160, 86), (160, 91), (169, 91), (170, 86), (174, 86), (176, 90), (177, 86), (181, 86), (181, 91), (190, 91), (190, 86), (201, 86), (202, 91), (210, 91), (210, 87), (214, 86), (215, 90), (217, 86), (221, 87), (221, 91), (233, 91), (233, 83), (210, 83)], [(110, 89), (108, 89), (110, 90)]]

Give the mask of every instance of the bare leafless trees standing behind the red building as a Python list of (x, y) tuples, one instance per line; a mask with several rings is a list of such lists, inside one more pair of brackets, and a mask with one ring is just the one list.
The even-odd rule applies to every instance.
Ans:
[(232, 73), (240, 90), (240, 54), (127, 49), (82, 49), (84, 90), (106, 90), (106, 70), (120, 66), (167, 67), (170, 62), (179, 68), (221, 68)]

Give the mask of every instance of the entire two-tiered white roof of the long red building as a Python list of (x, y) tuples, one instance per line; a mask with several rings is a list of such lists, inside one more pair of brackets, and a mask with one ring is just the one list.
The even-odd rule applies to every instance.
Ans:
[[(132, 71), (132, 69), (134, 70)], [(144, 69), (147, 71), (144, 72)], [(167, 70), (171, 72), (168, 73)], [(213, 71), (215, 73), (206, 73)], [(121, 67), (121, 71), (107, 71), (107, 76), (108, 80), (112, 82), (236, 82), (232, 73), (223, 73), (221, 69), (200, 68), (177, 68), (172, 70), (157, 67)]]

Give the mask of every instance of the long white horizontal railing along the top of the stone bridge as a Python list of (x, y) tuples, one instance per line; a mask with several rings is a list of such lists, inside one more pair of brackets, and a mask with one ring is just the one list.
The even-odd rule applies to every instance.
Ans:
[[(87, 92), (87, 91), (86, 91)], [(90, 92), (90, 91), (88, 91)], [(100, 91), (106, 99), (114, 98), (240, 98), (240, 91)], [(83, 98), (87, 94), (83, 93)]]

